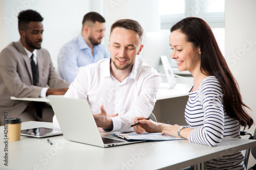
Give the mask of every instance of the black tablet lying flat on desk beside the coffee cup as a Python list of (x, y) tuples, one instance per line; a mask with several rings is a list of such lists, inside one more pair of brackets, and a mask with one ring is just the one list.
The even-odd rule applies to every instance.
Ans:
[(32, 136), (32, 137), (49, 137), (62, 135), (62, 131), (60, 129), (51, 129), (51, 128), (33, 128), (33, 129), (25, 129), (20, 132), (20, 135), (24, 136)]

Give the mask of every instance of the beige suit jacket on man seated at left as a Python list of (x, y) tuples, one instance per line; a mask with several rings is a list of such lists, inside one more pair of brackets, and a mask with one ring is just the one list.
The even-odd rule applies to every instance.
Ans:
[(39, 82), (33, 85), (30, 59), (22, 41), (10, 43), (0, 53), (0, 119), (3, 123), (4, 112), (8, 117), (16, 117), (22, 113), (29, 102), (11, 100), (16, 98), (38, 98), (43, 87), (67, 88), (70, 83), (62, 80), (53, 67), (47, 50), (37, 50), (37, 66)]

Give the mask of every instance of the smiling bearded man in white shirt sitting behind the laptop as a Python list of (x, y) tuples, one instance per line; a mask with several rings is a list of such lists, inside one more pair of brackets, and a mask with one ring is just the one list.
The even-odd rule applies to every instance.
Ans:
[[(143, 44), (139, 22), (121, 19), (110, 32), (110, 59), (84, 67), (65, 94), (86, 99), (98, 127), (105, 131), (131, 131), (136, 116), (154, 109), (160, 84), (158, 72), (138, 59)], [(58, 127), (56, 117), (53, 120)]]

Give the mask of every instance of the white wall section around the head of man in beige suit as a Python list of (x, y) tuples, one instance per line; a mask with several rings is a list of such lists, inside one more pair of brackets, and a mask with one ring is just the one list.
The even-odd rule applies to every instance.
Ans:
[(60, 47), (80, 34), (82, 18), (91, 10), (90, 2), (90, 0), (5, 0), (5, 21), (3, 23), (0, 20), (0, 23), (1, 27), (6, 26), (7, 44), (20, 38), (17, 23), (18, 13), (26, 9), (36, 10), (44, 17), (42, 47), (50, 52), (53, 62), (56, 63)]

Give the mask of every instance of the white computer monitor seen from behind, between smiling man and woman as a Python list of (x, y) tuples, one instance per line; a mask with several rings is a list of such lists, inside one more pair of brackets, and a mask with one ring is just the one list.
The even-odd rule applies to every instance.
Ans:
[(167, 83), (160, 85), (162, 88), (173, 88), (176, 86), (176, 79), (170, 66), (169, 43), (170, 31), (151, 32), (144, 35), (144, 47), (141, 59), (148, 65), (155, 68), (161, 77), (166, 76)]

